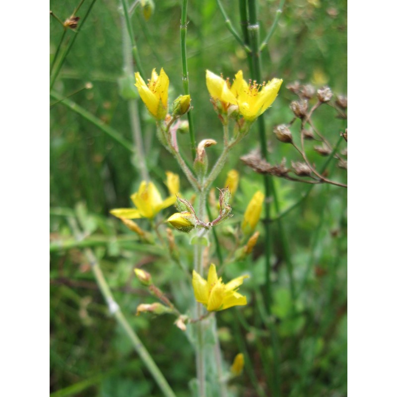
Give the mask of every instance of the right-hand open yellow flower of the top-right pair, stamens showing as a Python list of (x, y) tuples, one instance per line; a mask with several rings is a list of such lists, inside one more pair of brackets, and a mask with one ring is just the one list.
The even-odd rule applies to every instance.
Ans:
[(281, 83), (282, 79), (273, 78), (264, 85), (256, 81), (248, 84), (239, 70), (230, 91), (237, 99), (240, 114), (245, 120), (254, 121), (274, 102)]

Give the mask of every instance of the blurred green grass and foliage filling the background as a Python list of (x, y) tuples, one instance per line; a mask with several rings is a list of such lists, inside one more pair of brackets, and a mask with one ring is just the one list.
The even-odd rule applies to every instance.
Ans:
[[(84, 15), (89, 0), (77, 16)], [(270, 28), (278, 1), (260, 1), (262, 37)], [(51, 10), (65, 20), (77, 0), (50, 1)], [(239, 30), (238, 1), (223, 1), (224, 8)], [(55, 81), (54, 91), (70, 97), (106, 125), (132, 142), (127, 101), (120, 96), (118, 81), (124, 75), (120, 4), (97, 1), (78, 33), (66, 32), (66, 40), (78, 35)], [(169, 102), (183, 93), (180, 50), (181, 1), (155, 1), (155, 10), (145, 21), (138, 7), (132, 24), (145, 77), (152, 68), (164, 67), (169, 75)], [(222, 139), (221, 125), (213, 112), (205, 86), (205, 69), (233, 77), (242, 69), (249, 78), (246, 54), (225, 27), (214, 0), (188, 4), (188, 66), (196, 139)], [(50, 62), (63, 35), (63, 27), (50, 19)], [(264, 80), (283, 78), (277, 100), (266, 111), (269, 159), (280, 163), (283, 157), (297, 160), (290, 145), (277, 141), (274, 125), (292, 119), (289, 103), (294, 98), (286, 89), (295, 80), (320, 87), (330, 85), (335, 94), (346, 94), (347, 86), (347, 1), (286, 1), (283, 13), (268, 47), (263, 52)], [(92, 89), (81, 90), (87, 82)], [(79, 91), (80, 90), (80, 91)], [(52, 98), (52, 103), (55, 103)], [(172, 156), (158, 143), (155, 124), (139, 101), (143, 140), (150, 175), (166, 194), (165, 170), (181, 175), (181, 192), (193, 194)], [(316, 126), (335, 144), (346, 121), (335, 118), (331, 107), (321, 108)], [(292, 132), (297, 131), (292, 128)], [(190, 158), (189, 136), (181, 135), (180, 147)], [(131, 206), (130, 195), (140, 183), (135, 160), (125, 147), (62, 103), (51, 107), (50, 140), (51, 189), (51, 384), (52, 396), (161, 396), (150, 374), (132, 350), (129, 339), (116, 326), (96, 286), (82, 248), (90, 246), (116, 300), (128, 321), (148, 348), (177, 396), (190, 396), (188, 383), (196, 376), (194, 350), (169, 316), (136, 317), (139, 303), (152, 302), (146, 290), (133, 277), (133, 267), (147, 269), (183, 312), (189, 308), (192, 292), (183, 275), (153, 246), (140, 243), (132, 232), (109, 214), (111, 208)], [(241, 175), (239, 191), (233, 202), (235, 216), (230, 225), (241, 221), (247, 202), (263, 189), (263, 178), (244, 166), (239, 157), (257, 147), (258, 135), (252, 132), (233, 151), (227, 167), (215, 186), (223, 187), (231, 168)], [(219, 145), (220, 146), (220, 145)], [(307, 144), (308, 155), (321, 168), (324, 159)], [(208, 150), (210, 162), (221, 147)], [(345, 171), (331, 162), (332, 179), (345, 180)], [(308, 186), (275, 180), (280, 211), (299, 200)], [(164, 211), (164, 216), (172, 209)], [(73, 224), (77, 219), (86, 238), (77, 241)], [(309, 197), (283, 218), (294, 265), (298, 298), (291, 302), (285, 253), (280, 245), (277, 225), (272, 223), (272, 311), (279, 338), (282, 396), (347, 395), (347, 291), (346, 291), (346, 190), (329, 185), (315, 186)], [(148, 223), (142, 220), (144, 228)], [(261, 236), (264, 228), (259, 227)], [(232, 244), (227, 228), (219, 231), (223, 255)], [(189, 238), (176, 234), (181, 257), (191, 264)], [(217, 314), (221, 347), (226, 362), (243, 351), (250, 356), (243, 375), (232, 381), (236, 396), (256, 396), (251, 373), (259, 379), (266, 396), (272, 395), (274, 359), (269, 333), (263, 328), (256, 302), (261, 294), (256, 285), (265, 281), (264, 249), (260, 240), (250, 260), (225, 268), (230, 279), (242, 271), (251, 274), (244, 293), (249, 305)], [(216, 254), (211, 248), (211, 258)], [(186, 297), (189, 297), (187, 299)], [(258, 346), (261, 346), (258, 349)]]

